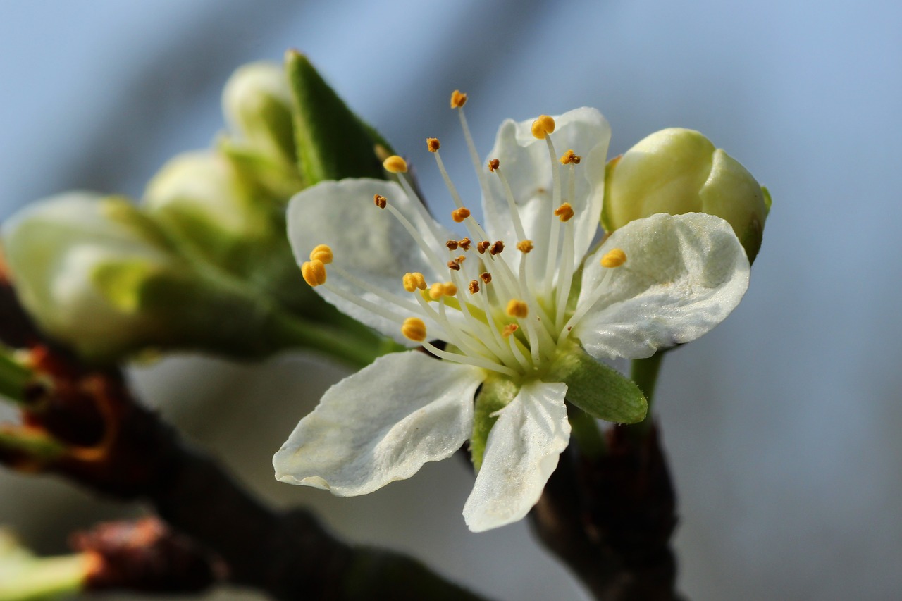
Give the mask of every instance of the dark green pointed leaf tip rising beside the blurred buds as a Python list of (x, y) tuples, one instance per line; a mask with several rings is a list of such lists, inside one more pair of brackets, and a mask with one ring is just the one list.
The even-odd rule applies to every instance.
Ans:
[(344, 178), (384, 179), (371, 129), (354, 115), (298, 51), (285, 54), (299, 171), (307, 186)]

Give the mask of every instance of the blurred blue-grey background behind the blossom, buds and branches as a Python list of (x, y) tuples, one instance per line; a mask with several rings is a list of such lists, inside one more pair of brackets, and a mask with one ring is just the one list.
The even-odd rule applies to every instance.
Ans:
[[(223, 127), (231, 71), (289, 47), (419, 162), (439, 215), (450, 200), (425, 137), (442, 139), (462, 191), (477, 190), (447, 107), (454, 88), (470, 94), (483, 153), (502, 118), (575, 106), (608, 117), (612, 155), (663, 127), (698, 129), (769, 187), (774, 206), (740, 308), (667, 356), (659, 383), (680, 588), (696, 600), (894, 598), (899, 31), (896, 3), (850, 0), (0, 3), (0, 216), (60, 190), (140, 196), (167, 158)], [(466, 530), (463, 462), (356, 499), (277, 483), (272, 453), (344, 375), (312, 356), (133, 368), (146, 402), (273, 503), (312, 506), (346, 537), (408, 551), (495, 598), (586, 598), (525, 522)], [(139, 512), (0, 472), (0, 522), (42, 551)]]

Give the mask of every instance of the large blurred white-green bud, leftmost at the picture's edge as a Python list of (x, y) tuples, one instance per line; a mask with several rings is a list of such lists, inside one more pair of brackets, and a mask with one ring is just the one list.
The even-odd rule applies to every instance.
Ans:
[(117, 197), (69, 192), (33, 203), (5, 222), (3, 242), (25, 309), (87, 357), (151, 336), (161, 323), (143, 310), (143, 286), (187, 276), (152, 222)]

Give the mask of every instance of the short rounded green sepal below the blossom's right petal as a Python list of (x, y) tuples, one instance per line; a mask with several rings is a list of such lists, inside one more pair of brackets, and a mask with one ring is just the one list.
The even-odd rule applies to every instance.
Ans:
[(555, 380), (567, 385), (566, 400), (599, 420), (636, 423), (649, 411), (639, 386), (588, 356), (578, 345), (561, 354), (552, 373)]

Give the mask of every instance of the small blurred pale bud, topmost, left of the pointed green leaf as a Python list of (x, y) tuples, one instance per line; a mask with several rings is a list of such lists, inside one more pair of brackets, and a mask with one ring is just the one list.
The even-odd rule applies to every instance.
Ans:
[(291, 89), (281, 65), (253, 62), (236, 69), (223, 90), (223, 113), (238, 143), (296, 163)]

